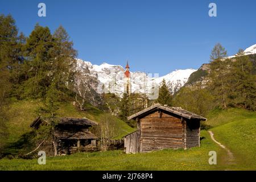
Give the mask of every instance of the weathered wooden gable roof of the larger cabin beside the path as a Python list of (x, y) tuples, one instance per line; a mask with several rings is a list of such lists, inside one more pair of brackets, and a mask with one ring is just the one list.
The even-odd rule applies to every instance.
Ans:
[(168, 106), (163, 106), (162, 104), (155, 104), (150, 107), (147, 107), (146, 109), (139, 111), (138, 113), (130, 115), (129, 117), (127, 117), (127, 119), (130, 120), (130, 119), (140, 118), (143, 115), (147, 115), (147, 113), (150, 113), (151, 111), (155, 111), (155, 110), (164, 110), (169, 113), (173, 113), (187, 119), (200, 119), (201, 121), (207, 121), (207, 118), (201, 117), (200, 115), (197, 115), (195, 113), (191, 113), (190, 111), (181, 109), (181, 107), (168, 107)]

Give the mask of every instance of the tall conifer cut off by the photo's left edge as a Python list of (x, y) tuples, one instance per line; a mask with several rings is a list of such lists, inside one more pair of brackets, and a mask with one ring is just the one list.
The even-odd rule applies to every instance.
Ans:
[[(12, 75), (16, 64), (18, 29), (10, 15), (0, 15), (0, 137), (7, 137), (6, 123)], [(1, 144), (0, 144), (1, 147)]]

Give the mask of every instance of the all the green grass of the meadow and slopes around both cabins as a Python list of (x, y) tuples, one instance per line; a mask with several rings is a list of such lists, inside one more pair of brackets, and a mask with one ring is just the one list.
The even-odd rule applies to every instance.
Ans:
[[(16, 113), (9, 123), (10, 137), (6, 143), (15, 142), (30, 131), (29, 125), (36, 117), (31, 110), (36, 101), (16, 102), (10, 113)], [(39, 103), (40, 104), (40, 103)], [(22, 107), (22, 109), (20, 109)], [(100, 110), (78, 112), (71, 104), (63, 104), (61, 116), (88, 117), (100, 122)], [(146, 154), (125, 154), (121, 150), (77, 153), (73, 155), (47, 157), (46, 165), (38, 159), (0, 160), (1, 170), (256, 170), (256, 113), (242, 109), (213, 110), (208, 115), (214, 138), (224, 144), (234, 155), (228, 163), (226, 150), (210, 139), (208, 131), (201, 130), (201, 146), (187, 150), (161, 150)], [(117, 119), (121, 135), (133, 131), (126, 123)], [(16, 130), (19, 129), (19, 130)], [(1, 141), (4, 142), (4, 141)], [(217, 164), (210, 165), (209, 151), (217, 152)]]

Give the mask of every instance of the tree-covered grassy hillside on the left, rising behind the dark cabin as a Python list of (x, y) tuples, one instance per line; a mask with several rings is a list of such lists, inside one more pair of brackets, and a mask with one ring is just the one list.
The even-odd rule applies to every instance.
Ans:
[[(134, 131), (112, 116), (104, 102), (97, 103), (100, 109), (90, 104), (92, 96), (84, 89), (84, 82), (77, 79), (81, 72), (77, 70), (76, 56), (77, 51), (64, 27), (51, 34), (48, 27), (36, 24), (25, 37), (18, 34), (10, 15), (0, 15), (0, 148), (3, 156), (22, 155), (44, 140), (51, 143), (52, 126), (58, 117), (88, 117), (99, 122), (104, 132), (108, 127), (105, 121), (111, 121), (108, 124), (111, 124), (112, 135), (108, 135), (108, 139), (121, 138)], [(38, 116), (44, 118), (48, 126), (42, 126), (35, 133), (30, 123)], [(101, 133), (97, 134), (99, 138)]]

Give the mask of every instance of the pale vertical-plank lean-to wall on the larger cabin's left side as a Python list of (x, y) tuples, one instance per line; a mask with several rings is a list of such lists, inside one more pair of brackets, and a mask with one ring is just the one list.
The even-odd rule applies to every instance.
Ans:
[(135, 154), (139, 148), (138, 131), (131, 133), (125, 137), (125, 152), (126, 154)]

